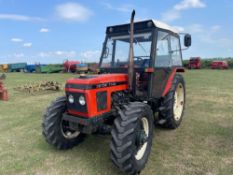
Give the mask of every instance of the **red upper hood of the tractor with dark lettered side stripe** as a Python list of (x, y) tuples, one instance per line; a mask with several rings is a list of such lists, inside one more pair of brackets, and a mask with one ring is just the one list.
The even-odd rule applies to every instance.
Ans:
[(81, 75), (78, 78), (68, 79), (66, 81), (66, 88), (83, 90), (98, 89), (128, 84), (127, 82), (128, 76), (126, 74)]

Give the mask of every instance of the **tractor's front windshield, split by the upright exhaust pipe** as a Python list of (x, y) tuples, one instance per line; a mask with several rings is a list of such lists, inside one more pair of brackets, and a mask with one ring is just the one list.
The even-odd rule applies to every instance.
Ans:
[[(149, 67), (151, 52), (151, 32), (134, 35), (135, 67)], [(112, 36), (108, 38), (101, 67), (127, 67), (129, 57), (130, 36)]]

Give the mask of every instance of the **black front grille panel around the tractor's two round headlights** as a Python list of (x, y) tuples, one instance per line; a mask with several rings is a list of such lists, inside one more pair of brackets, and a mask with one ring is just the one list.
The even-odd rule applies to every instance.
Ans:
[[(74, 97), (74, 103), (69, 103), (68, 96), (73, 95)], [(77, 112), (83, 112), (87, 113), (87, 104), (81, 105), (79, 103), (79, 97), (83, 95), (85, 97), (85, 94), (83, 93), (78, 93), (78, 92), (66, 92), (66, 97), (67, 97), (67, 108), (69, 110), (77, 111)]]

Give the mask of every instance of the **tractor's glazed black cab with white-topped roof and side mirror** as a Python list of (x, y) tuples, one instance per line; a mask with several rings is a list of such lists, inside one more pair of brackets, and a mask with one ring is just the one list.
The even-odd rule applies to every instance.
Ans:
[[(134, 23), (133, 93), (137, 98), (160, 98), (174, 71), (183, 72), (181, 41), (178, 30), (156, 21)], [(184, 44), (191, 45), (185, 35)], [(127, 73), (130, 48), (130, 24), (109, 26), (100, 58), (100, 73)]]

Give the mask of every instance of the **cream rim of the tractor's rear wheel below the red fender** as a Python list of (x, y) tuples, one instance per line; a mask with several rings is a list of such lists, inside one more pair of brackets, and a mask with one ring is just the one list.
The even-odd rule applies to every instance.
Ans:
[(174, 95), (174, 106), (173, 106), (173, 113), (174, 119), (179, 121), (182, 112), (184, 109), (184, 87), (181, 83), (178, 84), (176, 87), (175, 95)]

